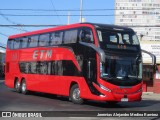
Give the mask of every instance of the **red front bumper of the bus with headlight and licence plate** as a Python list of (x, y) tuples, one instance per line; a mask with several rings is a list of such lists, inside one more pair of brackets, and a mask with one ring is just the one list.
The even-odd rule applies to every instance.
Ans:
[[(117, 102), (132, 102), (140, 101), (142, 98), (142, 84), (138, 84), (131, 88), (120, 88), (118, 86), (110, 86), (109, 89), (105, 86), (109, 85), (97, 85), (93, 83), (93, 86), (101, 93), (101, 95), (94, 95), (90, 93), (86, 96), (84, 93), (84, 98), (88, 98), (96, 101), (117, 101)], [(82, 95), (82, 98), (83, 98)]]

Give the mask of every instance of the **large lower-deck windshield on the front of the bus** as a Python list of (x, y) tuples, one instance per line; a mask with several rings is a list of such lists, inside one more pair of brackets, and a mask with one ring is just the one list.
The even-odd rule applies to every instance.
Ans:
[(142, 79), (141, 58), (107, 55), (106, 62), (101, 64), (101, 78), (115, 85), (135, 85)]

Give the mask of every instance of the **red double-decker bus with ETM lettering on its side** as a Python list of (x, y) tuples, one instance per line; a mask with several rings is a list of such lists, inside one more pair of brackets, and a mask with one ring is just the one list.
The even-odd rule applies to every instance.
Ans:
[(5, 84), (17, 92), (44, 92), (84, 100), (139, 101), (142, 56), (126, 27), (78, 23), (10, 36)]

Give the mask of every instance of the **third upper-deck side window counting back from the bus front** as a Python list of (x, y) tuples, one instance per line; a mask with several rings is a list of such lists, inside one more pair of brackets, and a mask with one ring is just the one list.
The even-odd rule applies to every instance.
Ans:
[(51, 35), (50, 45), (62, 44), (63, 32), (54, 32)]

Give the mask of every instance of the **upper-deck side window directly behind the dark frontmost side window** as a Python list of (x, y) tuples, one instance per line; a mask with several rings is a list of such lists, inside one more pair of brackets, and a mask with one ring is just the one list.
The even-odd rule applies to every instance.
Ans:
[(64, 33), (64, 43), (76, 43), (78, 30), (68, 30)]

